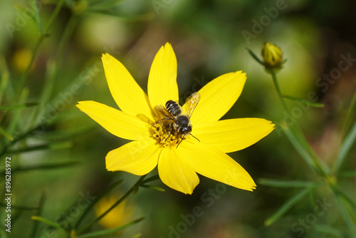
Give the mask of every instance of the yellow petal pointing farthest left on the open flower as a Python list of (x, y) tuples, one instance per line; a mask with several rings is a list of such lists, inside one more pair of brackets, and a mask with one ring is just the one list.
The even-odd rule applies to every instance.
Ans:
[(76, 106), (105, 130), (119, 138), (127, 140), (147, 140), (151, 138), (151, 125), (137, 117), (91, 100), (78, 102)]

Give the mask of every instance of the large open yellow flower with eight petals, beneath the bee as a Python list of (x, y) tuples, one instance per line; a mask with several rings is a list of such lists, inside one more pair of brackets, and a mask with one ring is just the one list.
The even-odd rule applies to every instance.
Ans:
[[(146, 175), (158, 165), (165, 185), (192, 194), (199, 184), (197, 173), (226, 185), (252, 191), (256, 184), (226, 152), (253, 145), (274, 129), (260, 118), (219, 120), (236, 102), (246, 81), (241, 71), (226, 73), (199, 90), (200, 101), (190, 118), (192, 134), (177, 147), (182, 135), (169, 133), (167, 120), (157, 105), (178, 102), (177, 59), (169, 43), (159, 49), (152, 63), (145, 93), (115, 58), (103, 55), (110, 92), (121, 110), (94, 101), (81, 101), (77, 107), (113, 135), (130, 143), (106, 156), (109, 171), (122, 170)], [(183, 105), (183, 109), (187, 105)]]

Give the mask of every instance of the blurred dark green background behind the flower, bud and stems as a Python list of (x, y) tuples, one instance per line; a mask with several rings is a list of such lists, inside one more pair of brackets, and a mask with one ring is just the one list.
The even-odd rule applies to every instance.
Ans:
[[(57, 4), (38, 1), (43, 28)], [(66, 0), (49, 26), (48, 36), (38, 46), (21, 95), (14, 102), (11, 98), (41, 35), (36, 21), (28, 16), (31, 6), (31, 1), (0, 2), (1, 105), (38, 103), (7, 113), (1, 111), (1, 127), (8, 128), (6, 131), (16, 138), (43, 125), (1, 155), (1, 168), (6, 156), (12, 158), (12, 205), (42, 204), (41, 216), (55, 221), (83, 195), (96, 197), (121, 178), (125, 182), (115, 192), (122, 195), (130, 189), (139, 177), (105, 170), (105, 155), (127, 141), (108, 133), (80, 113), (75, 104), (95, 100), (117, 107), (100, 60), (106, 52), (121, 61), (146, 90), (152, 60), (166, 42), (172, 43), (177, 56), (181, 103), (217, 76), (242, 70), (247, 74), (246, 86), (224, 118), (256, 117), (279, 122), (288, 115), (283, 113), (271, 76), (246, 51), (251, 48), (259, 55), (264, 41), (276, 43), (288, 60), (278, 73), (283, 93), (308, 99), (308, 93), (314, 92), (316, 101), (325, 105), (312, 108), (288, 101), (290, 108), (302, 111), (291, 120), (299, 123), (326, 164), (335, 161), (345, 115), (356, 89), (356, 1)], [(323, 75), (340, 69), (340, 61), (345, 58), (349, 58), (347, 70), (325, 81)], [(1, 147), (8, 143), (2, 136)], [(355, 170), (355, 155), (354, 146), (343, 168)], [(127, 200), (126, 212), (119, 211), (116, 216), (117, 224), (145, 219), (108, 237), (133, 237), (138, 233), (142, 237), (352, 237), (347, 232), (325, 232), (328, 227), (346, 230), (327, 187), (313, 190), (266, 226), (266, 219), (300, 187), (270, 187), (263, 185), (261, 178), (318, 180), (281, 130), (230, 156), (256, 181), (256, 191), (238, 190), (200, 176), (193, 195), (183, 195), (155, 181), (152, 184), (165, 192), (140, 188)], [(16, 171), (18, 168), (27, 170)], [(155, 174), (157, 169), (151, 172)], [(4, 191), (2, 177), (1, 181)], [(355, 178), (339, 182), (355, 200)], [(4, 194), (1, 192), (1, 197)], [(315, 214), (318, 201), (328, 203), (325, 212), (310, 215)], [(201, 208), (199, 216), (187, 218), (197, 206)], [(3, 224), (4, 207), (0, 214)], [(11, 234), (1, 225), (1, 237), (32, 237), (31, 216), (38, 210), (15, 208), (11, 214)], [(94, 217), (95, 212), (91, 212), (84, 223)], [(68, 219), (78, 219), (74, 210)], [(106, 228), (102, 223), (93, 230)], [(48, 225), (41, 223), (35, 237), (51, 237), (46, 232)], [(54, 235), (68, 237), (61, 230)]]

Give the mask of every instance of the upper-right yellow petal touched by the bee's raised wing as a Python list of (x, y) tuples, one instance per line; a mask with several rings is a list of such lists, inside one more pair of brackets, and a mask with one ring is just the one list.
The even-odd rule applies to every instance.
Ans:
[[(246, 82), (246, 73), (226, 73), (199, 90), (200, 101), (192, 114), (192, 125), (219, 120), (234, 105)], [(184, 108), (186, 106), (184, 105)]]

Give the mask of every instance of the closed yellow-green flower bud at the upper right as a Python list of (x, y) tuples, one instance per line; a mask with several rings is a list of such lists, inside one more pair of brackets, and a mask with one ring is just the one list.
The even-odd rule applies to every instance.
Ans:
[(263, 43), (261, 54), (267, 70), (281, 68), (283, 60), (281, 48), (273, 45), (273, 43), (265, 42)]

